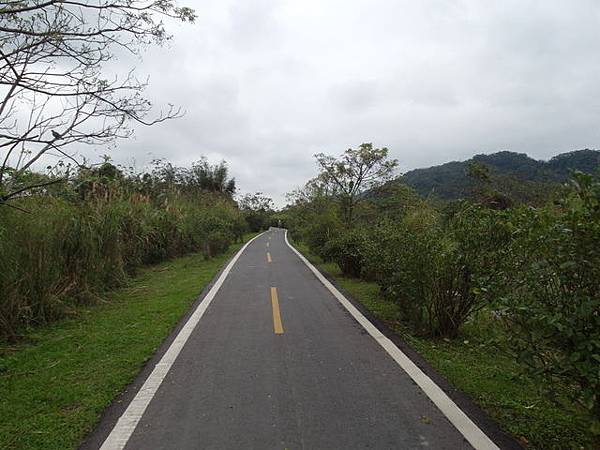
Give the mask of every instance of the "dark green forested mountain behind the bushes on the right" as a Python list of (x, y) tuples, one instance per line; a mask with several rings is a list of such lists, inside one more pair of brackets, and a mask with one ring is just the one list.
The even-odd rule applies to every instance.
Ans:
[(475, 188), (476, 181), (467, 175), (469, 166), (474, 162), (487, 167), (491, 181), (501, 191), (527, 197), (528, 193), (541, 192), (565, 181), (570, 170), (596, 172), (600, 167), (600, 151), (586, 149), (561, 153), (549, 161), (536, 160), (524, 153), (502, 151), (475, 155), (467, 161), (411, 170), (399, 180), (423, 196), (456, 200), (468, 197)]

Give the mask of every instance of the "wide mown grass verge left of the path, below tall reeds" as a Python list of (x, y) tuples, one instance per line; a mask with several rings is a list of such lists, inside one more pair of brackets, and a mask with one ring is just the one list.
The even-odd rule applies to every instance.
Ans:
[(0, 346), (0, 448), (76, 448), (240, 246), (142, 269), (106, 302)]

